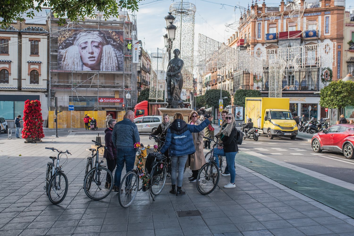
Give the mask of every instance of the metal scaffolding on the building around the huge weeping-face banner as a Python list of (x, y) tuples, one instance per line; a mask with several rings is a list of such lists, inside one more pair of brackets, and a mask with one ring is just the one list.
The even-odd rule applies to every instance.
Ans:
[[(97, 12), (96, 18), (87, 18), (85, 21), (68, 22), (58, 26), (58, 18), (50, 13), (50, 107), (54, 109), (54, 97), (58, 97), (58, 105), (63, 110), (68, 105), (75, 105), (75, 110), (107, 110), (121, 111), (132, 109), (137, 101), (137, 65), (132, 63), (132, 53), (127, 50), (129, 41), (137, 40), (137, 26), (135, 13), (120, 11), (118, 18), (101, 20), (102, 13)], [(124, 67), (121, 71), (83, 71), (60, 70), (58, 68), (58, 36), (68, 30), (106, 30), (105, 32), (120, 31), (122, 57)], [(61, 61), (59, 61), (60, 64)], [(127, 96), (127, 93), (130, 94)], [(124, 103), (100, 102), (99, 97), (123, 98)], [(125, 104), (126, 108), (122, 106)]]

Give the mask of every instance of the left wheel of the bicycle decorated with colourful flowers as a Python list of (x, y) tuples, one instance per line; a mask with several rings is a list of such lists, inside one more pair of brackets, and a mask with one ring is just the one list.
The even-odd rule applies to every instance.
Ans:
[[(123, 190), (123, 191), (122, 191)], [(120, 182), (118, 200), (119, 204), (126, 208), (129, 207), (139, 191), (139, 178), (135, 171), (126, 173)]]

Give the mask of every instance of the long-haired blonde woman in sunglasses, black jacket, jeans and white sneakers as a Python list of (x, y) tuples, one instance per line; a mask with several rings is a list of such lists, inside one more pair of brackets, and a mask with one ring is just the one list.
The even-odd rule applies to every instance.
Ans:
[(237, 129), (235, 117), (233, 114), (228, 113), (225, 117), (226, 127), (220, 133), (220, 143), (217, 148), (214, 149), (214, 157), (216, 165), (219, 167), (218, 155), (226, 157), (226, 163), (230, 171), (230, 183), (224, 185), (224, 188), (235, 188), (235, 156), (239, 151), (237, 143), (234, 137), (237, 137)]

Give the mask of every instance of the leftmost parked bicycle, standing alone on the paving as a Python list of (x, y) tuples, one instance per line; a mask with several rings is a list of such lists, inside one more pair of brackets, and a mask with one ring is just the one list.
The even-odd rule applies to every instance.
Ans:
[[(49, 157), (50, 159), (52, 159), (53, 162), (47, 163), (46, 186), (44, 186), (44, 190), (46, 190), (46, 194), (49, 197), (49, 201), (54, 205), (57, 205), (64, 200), (68, 192), (68, 178), (62, 171), (62, 166), (59, 166), (60, 157), (62, 154), (71, 155), (71, 153), (68, 150), (61, 151), (56, 148), (46, 147), (45, 149), (58, 152), (57, 157)], [(54, 164), (55, 160), (57, 160), (56, 165)]]

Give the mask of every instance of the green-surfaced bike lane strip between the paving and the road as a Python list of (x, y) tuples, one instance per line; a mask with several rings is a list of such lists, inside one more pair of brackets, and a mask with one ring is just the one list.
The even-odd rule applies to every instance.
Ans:
[(354, 191), (240, 151), (235, 162), (354, 218)]

